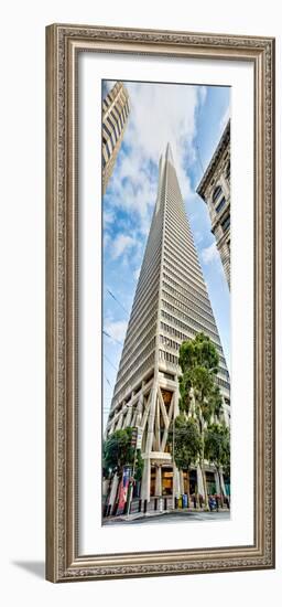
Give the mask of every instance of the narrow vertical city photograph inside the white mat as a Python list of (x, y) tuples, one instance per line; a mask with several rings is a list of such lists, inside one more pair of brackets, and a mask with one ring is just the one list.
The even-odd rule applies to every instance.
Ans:
[(231, 86), (101, 82), (102, 525), (232, 512), (231, 114)]

